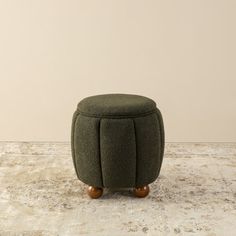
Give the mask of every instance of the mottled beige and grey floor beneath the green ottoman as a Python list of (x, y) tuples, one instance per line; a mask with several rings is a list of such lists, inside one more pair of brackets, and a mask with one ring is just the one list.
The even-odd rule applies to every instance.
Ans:
[(0, 143), (0, 235), (236, 235), (236, 144), (169, 143), (145, 199), (90, 200), (69, 143)]

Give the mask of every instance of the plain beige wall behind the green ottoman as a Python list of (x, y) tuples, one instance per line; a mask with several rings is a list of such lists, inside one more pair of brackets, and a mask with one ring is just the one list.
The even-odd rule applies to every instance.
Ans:
[(156, 100), (167, 141), (236, 141), (235, 0), (0, 0), (0, 140), (68, 141), (85, 96)]

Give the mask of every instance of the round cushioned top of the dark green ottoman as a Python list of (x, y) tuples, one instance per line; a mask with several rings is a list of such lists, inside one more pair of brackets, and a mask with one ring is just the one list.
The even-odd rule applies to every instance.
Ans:
[(156, 103), (140, 95), (102, 94), (84, 98), (77, 109), (94, 117), (137, 117), (156, 111)]

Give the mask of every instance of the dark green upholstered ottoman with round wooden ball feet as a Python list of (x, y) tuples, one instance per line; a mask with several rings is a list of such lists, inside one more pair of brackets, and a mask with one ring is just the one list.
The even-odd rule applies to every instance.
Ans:
[(103, 188), (134, 188), (144, 197), (161, 169), (162, 115), (143, 96), (87, 97), (74, 113), (71, 144), (76, 174), (90, 186), (90, 197), (100, 197)]

